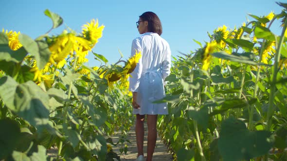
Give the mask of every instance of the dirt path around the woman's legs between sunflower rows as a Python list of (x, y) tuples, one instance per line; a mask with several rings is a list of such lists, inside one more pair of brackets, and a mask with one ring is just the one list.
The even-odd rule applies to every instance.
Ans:
[[(143, 153), (146, 157), (146, 146), (147, 146), (147, 125), (144, 124), (144, 142), (143, 142)], [(137, 144), (136, 144), (136, 134), (135, 129), (132, 127), (127, 134), (127, 139), (131, 142), (128, 145), (127, 154), (122, 154), (121, 161), (135, 161), (137, 158)], [(118, 137), (111, 137), (115, 141)], [(120, 154), (119, 148), (113, 147), (113, 151), (117, 154)], [(168, 152), (167, 147), (161, 141), (161, 138), (158, 137), (155, 152), (153, 155), (153, 161), (173, 161), (172, 155)]]

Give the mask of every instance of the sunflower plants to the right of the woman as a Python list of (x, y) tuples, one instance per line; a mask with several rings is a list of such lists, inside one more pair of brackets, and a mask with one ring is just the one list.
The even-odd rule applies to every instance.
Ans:
[(287, 3), (278, 4), (281, 13), (223, 25), (174, 58), (158, 126), (178, 161), (287, 161)]

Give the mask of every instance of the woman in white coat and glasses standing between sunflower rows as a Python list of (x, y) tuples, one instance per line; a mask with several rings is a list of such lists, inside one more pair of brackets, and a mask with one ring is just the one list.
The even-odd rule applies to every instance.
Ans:
[(143, 121), (147, 115), (147, 157), (151, 161), (157, 140), (158, 114), (168, 114), (167, 103), (152, 103), (165, 96), (163, 82), (170, 74), (171, 51), (161, 38), (161, 20), (153, 12), (145, 12), (137, 22), (141, 35), (132, 42), (131, 55), (141, 52), (142, 57), (131, 73), (129, 90), (133, 93), (133, 113), (136, 114), (138, 158), (143, 161)]

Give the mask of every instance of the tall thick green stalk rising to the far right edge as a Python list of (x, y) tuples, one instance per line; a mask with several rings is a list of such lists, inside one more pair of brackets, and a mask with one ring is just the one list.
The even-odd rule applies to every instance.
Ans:
[(272, 81), (271, 81), (271, 87), (270, 87), (270, 93), (269, 93), (269, 108), (268, 108), (268, 113), (267, 113), (267, 129), (270, 130), (271, 129), (271, 125), (272, 125), (272, 115), (273, 115), (273, 108), (274, 108), (274, 98), (275, 98), (275, 83), (276, 83), (276, 76), (278, 73), (278, 63), (280, 61), (280, 51), (281, 51), (281, 47), (282, 44), (284, 42), (284, 33), (286, 31), (287, 28), (287, 18), (285, 18), (285, 22), (284, 22), (284, 27), (280, 36), (280, 40), (279, 40), (279, 44), (278, 47), (276, 48), (276, 55), (275, 55), (275, 60), (274, 60), (274, 68), (273, 68), (273, 77), (272, 77)]

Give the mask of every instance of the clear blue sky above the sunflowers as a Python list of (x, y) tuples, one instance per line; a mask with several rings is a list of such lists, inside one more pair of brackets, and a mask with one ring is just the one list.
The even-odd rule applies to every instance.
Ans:
[[(276, 0), (278, 1), (278, 0)], [(140, 36), (136, 21), (146, 11), (156, 13), (162, 23), (161, 36), (170, 45), (172, 55), (190, 53), (199, 46), (193, 39), (209, 41), (207, 32), (212, 33), (222, 25), (239, 27), (243, 22), (253, 20), (249, 14), (267, 16), (270, 11), (278, 14), (282, 7), (275, 0), (1, 0), (0, 29), (20, 31), (32, 38), (44, 34), (52, 21), (44, 15), (50, 11), (60, 15), (64, 23), (50, 34), (60, 34), (70, 27), (81, 32), (82, 25), (91, 19), (98, 19), (105, 25), (103, 37), (92, 49), (104, 55), (112, 64), (120, 59), (118, 50), (124, 58), (130, 56), (132, 40)], [(284, 2), (280, 0), (279, 2)], [(286, 1), (285, 1), (286, 2)], [(279, 25), (271, 28), (279, 34)], [(89, 53), (87, 65), (98, 65)]]

